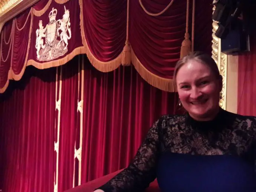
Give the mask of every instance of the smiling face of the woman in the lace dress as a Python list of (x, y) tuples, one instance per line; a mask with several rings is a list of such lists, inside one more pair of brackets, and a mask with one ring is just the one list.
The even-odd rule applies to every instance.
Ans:
[(210, 67), (189, 60), (176, 75), (178, 94), (183, 107), (196, 120), (210, 120), (219, 111), (222, 79)]

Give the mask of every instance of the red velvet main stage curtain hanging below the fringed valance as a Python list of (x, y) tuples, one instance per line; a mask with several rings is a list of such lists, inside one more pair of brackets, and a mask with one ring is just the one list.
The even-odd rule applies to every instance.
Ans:
[[(29, 67), (22, 80), (12, 82), (1, 95), (4, 191), (53, 191), (56, 175), (59, 192), (78, 184), (79, 163), (74, 153), (75, 145), (78, 149), (81, 142), (77, 109), (82, 91), (81, 65), (84, 67), (82, 183), (127, 166), (152, 122), (163, 114), (182, 112), (177, 110), (176, 93), (148, 85), (134, 67), (102, 73), (88, 59), (84, 60), (79, 65), (81, 59), (75, 57), (58, 68), (62, 83), (58, 81), (57, 89), (56, 68)], [(55, 98), (58, 100), (59, 94), (58, 140)], [(54, 148), (56, 141), (59, 141), (58, 153)]]

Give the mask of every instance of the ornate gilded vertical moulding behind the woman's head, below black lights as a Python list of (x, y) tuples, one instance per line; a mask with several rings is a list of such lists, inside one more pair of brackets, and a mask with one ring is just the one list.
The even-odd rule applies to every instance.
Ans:
[[(215, 7), (213, 7), (213, 11), (215, 10)], [(220, 99), (220, 107), (222, 109), (226, 109), (226, 98), (227, 98), (227, 55), (224, 53), (221, 53), (221, 39), (216, 37), (215, 33), (218, 29), (218, 23), (216, 21), (213, 21), (213, 40), (212, 40), (212, 58), (217, 63), (220, 75), (223, 78), (223, 86), (221, 90), (221, 99)]]

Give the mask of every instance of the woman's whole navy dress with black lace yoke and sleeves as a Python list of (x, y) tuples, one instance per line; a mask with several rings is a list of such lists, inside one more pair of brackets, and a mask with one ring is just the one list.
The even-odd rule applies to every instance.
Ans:
[(163, 116), (131, 164), (99, 189), (142, 192), (157, 178), (163, 192), (256, 192), (255, 138), (252, 116), (222, 109), (207, 122)]

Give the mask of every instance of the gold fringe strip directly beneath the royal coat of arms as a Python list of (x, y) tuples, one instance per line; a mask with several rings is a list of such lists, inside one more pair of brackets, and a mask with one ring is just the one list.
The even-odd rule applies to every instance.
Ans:
[(74, 49), (71, 53), (67, 54), (65, 57), (45, 63), (38, 63), (33, 59), (30, 59), (27, 61), (27, 66), (33, 65), (37, 69), (47, 69), (50, 67), (57, 67), (63, 64), (66, 64), (71, 59), (73, 59), (78, 54), (85, 54), (85, 48), (84, 47), (77, 47)]

